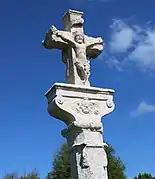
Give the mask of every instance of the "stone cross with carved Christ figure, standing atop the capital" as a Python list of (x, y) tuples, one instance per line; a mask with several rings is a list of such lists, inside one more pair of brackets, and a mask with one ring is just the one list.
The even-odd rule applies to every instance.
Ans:
[(103, 51), (102, 38), (84, 35), (83, 13), (69, 10), (62, 18), (65, 31), (52, 26), (42, 42), (47, 49), (62, 50), (62, 60), (66, 64), (68, 83), (90, 86), (89, 58), (96, 58)]

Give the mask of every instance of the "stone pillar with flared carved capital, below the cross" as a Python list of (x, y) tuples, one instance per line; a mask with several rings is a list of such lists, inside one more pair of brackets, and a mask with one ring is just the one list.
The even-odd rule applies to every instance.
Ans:
[(64, 121), (73, 179), (107, 179), (101, 118), (114, 109), (114, 90), (55, 83), (46, 93), (48, 112)]

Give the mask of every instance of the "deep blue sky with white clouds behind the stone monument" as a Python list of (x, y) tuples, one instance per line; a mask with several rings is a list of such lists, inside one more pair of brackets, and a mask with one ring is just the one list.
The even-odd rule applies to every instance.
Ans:
[[(61, 5), (60, 5), (61, 4)], [(58, 50), (41, 41), (68, 9), (84, 11), (85, 33), (105, 50), (91, 61), (92, 86), (115, 89), (116, 109), (103, 119), (105, 139), (133, 178), (155, 175), (154, 0), (0, 1), (0, 178), (34, 168), (44, 178), (65, 141), (65, 125), (47, 113), (45, 92), (65, 82)]]

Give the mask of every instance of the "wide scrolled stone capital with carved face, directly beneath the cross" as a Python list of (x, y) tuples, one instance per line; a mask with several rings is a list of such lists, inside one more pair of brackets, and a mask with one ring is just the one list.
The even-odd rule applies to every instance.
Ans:
[(67, 125), (96, 129), (114, 109), (113, 90), (57, 83), (47, 93), (48, 112)]

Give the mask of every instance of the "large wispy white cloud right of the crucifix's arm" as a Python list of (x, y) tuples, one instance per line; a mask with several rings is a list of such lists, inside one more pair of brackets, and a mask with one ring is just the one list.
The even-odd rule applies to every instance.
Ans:
[(155, 28), (150, 24), (145, 28), (127, 25), (116, 19), (110, 28), (111, 37), (106, 49), (110, 66), (118, 69), (119, 64), (122, 69), (125, 64), (130, 63), (144, 71), (155, 71)]

